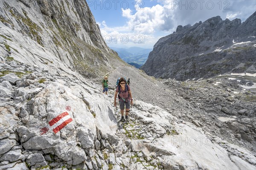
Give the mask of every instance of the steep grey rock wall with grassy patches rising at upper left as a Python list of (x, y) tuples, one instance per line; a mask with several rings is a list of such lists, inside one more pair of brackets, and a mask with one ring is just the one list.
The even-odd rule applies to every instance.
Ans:
[(1, 4), (1, 60), (14, 57), (44, 68), (55, 66), (52, 70), (59, 73), (70, 68), (85, 77), (99, 77), (122, 64), (104, 42), (86, 1), (3, 0)]

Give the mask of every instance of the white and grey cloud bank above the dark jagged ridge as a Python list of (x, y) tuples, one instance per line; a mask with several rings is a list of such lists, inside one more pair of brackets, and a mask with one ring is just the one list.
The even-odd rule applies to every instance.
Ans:
[[(237, 17), (243, 21), (253, 14), (256, 7), (255, 2), (252, 1), (221, 1), (221, 4), (220, 1), (201, 1), (204, 2), (201, 4), (198, 3), (199, 1), (193, 1), (197, 3), (196, 6), (191, 3), (192, 1), (182, 1), (183, 5), (180, 6), (181, 1), (160, 0), (158, 1), (159, 4), (151, 7), (146, 7), (145, 3), (144, 8), (140, 8), (143, 1), (136, 0), (136, 2), (135, 10), (131, 8), (121, 9), (122, 17), (127, 20), (124, 26), (110, 28), (105, 21), (98, 23), (102, 36), (112, 38), (111, 46), (122, 47), (125, 45), (152, 48), (161, 36), (172, 34), (178, 25), (193, 25), (200, 20), (204, 22), (217, 15), (221, 16), (222, 20), (226, 18), (233, 20)], [(211, 2), (214, 3), (213, 6)], [(116, 35), (118, 37), (115, 37)], [(138, 37), (140, 35), (144, 38), (142, 41), (144, 44), (138, 44), (142, 40), (141, 37), (140, 39)], [(120, 38), (126, 36), (129, 41), (123, 43)]]

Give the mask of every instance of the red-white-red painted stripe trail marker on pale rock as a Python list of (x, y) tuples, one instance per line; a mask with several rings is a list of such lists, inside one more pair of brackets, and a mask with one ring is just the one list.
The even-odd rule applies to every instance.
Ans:
[(68, 123), (72, 122), (73, 119), (69, 116), (67, 112), (61, 113), (57, 117), (53, 118), (49, 125), (54, 133), (60, 131), (63, 127), (65, 127)]

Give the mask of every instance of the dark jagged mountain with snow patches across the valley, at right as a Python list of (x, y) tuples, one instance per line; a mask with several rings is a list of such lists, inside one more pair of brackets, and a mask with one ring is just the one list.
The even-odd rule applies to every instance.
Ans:
[(194, 26), (178, 26), (161, 38), (142, 66), (148, 75), (178, 80), (225, 73), (255, 73), (256, 12), (241, 24), (212, 17)]

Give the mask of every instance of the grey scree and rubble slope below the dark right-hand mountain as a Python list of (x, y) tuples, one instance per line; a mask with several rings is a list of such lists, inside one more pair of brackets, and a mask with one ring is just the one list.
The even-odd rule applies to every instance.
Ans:
[[(142, 70), (121, 66), (109, 74), (109, 82), (115, 83), (118, 77), (131, 78), (135, 99), (157, 105), (211, 136), (219, 136), (255, 153), (255, 74), (180, 82), (155, 79)], [(115, 89), (115, 84), (111, 87)]]

